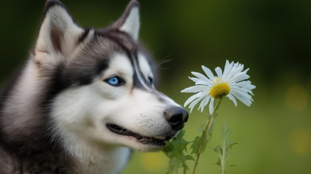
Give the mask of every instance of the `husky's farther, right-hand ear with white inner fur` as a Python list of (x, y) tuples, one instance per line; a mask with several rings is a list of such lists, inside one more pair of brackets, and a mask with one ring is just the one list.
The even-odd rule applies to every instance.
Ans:
[(128, 33), (135, 41), (138, 40), (140, 29), (139, 3), (136, 0), (130, 1), (121, 18), (113, 27)]

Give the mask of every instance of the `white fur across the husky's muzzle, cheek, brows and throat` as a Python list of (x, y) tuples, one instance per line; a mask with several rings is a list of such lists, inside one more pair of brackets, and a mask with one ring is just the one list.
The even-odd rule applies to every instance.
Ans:
[[(145, 66), (145, 61), (140, 58), (141, 65)], [(145, 77), (151, 75), (148, 67), (142, 70)], [(97, 174), (94, 171), (113, 174), (113, 171), (103, 171), (113, 169), (114, 165), (117, 165), (116, 171), (121, 169), (130, 154), (127, 147), (141, 151), (156, 150), (138, 142), (135, 137), (111, 132), (106, 123), (116, 123), (148, 137), (161, 136), (163, 130), (170, 129), (163, 116), (165, 104), (152, 93), (133, 89), (133, 74), (129, 59), (125, 55), (115, 55), (102, 78), (90, 85), (70, 88), (53, 102), (52, 116), (64, 147), (78, 159), (81, 168), (92, 168), (92, 174)], [(122, 77), (125, 85), (114, 87), (103, 81), (115, 75)], [(165, 99), (167, 105), (177, 105), (167, 97)]]

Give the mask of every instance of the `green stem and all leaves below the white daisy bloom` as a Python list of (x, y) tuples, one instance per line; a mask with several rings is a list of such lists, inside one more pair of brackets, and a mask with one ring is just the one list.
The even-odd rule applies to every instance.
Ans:
[[(208, 116), (205, 125), (200, 125), (199, 133), (202, 133), (201, 136), (197, 136), (193, 141), (188, 142), (183, 139), (185, 131), (182, 130), (175, 138), (166, 142), (166, 146), (162, 150), (164, 154), (170, 159), (168, 172), (166, 174), (171, 174), (174, 171), (176, 171), (177, 174), (179, 168), (183, 168), (183, 174), (186, 174), (186, 172), (189, 170), (186, 164), (187, 160), (195, 161), (192, 171), (192, 174), (195, 174), (200, 155), (204, 152), (207, 144), (209, 144), (211, 141), (214, 129), (214, 118), (217, 116), (217, 110), (219, 108), (220, 101), (221, 100), (217, 102), (217, 105), (215, 106), (212, 115)], [(227, 128), (226, 122), (224, 121), (223, 124), (221, 124), (220, 145), (212, 148), (219, 155), (218, 162), (216, 162), (215, 164), (221, 167), (222, 174), (225, 174), (226, 163), (229, 156), (231, 155), (231, 148), (234, 144), (237, 144), (230, 141), (230, 130), (231, 127)], [(192, 149), (191, 155), (194, 154), (196, 160), (193, 158), (193, 156), (184, 154), (188, 152), (187, 146), (190, 144), (190, 149)]]

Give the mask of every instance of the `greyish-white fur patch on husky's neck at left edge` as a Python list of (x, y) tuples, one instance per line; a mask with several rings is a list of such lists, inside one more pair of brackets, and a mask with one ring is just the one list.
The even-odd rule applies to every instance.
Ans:
[[(15, 133), (22, 135), (23, 133), (25, 133), (23, 131), (23, 129), (25, 128), (27, 130), (33, 130), (33, 126), (36, 125), (36, 119), (39, 119), (39, 114), (37, 113), (37, 110), (33, 109), (32, 107), (37, 102), (36, 98), (34, 98), (33, 96), (36, 96), (39, 93), (37, 89), (37, 72), (34, 67), (35, 66), (32, 61), (28, 61), (26, 63), (25, 68), (22, 72), (22, 74), (24, 75), (20, 78), (21, 80), (18, 81), (12, 89), (12, 91), (14, 91), (14, 94), (7, 99), (6, 103), (3, 106), (3, 116), (10, 116), (9, 119), (3, 119), (3, 122), (5, 122), (4, 124), (16, 124), (16, 126), (14, 127), (3, 126), (4, 129), (7, 128), (13, 130), (11, 131), (12, 136), (14, 136)], [(20, 119), (19, 116), (23, 116), (23, 119)]]

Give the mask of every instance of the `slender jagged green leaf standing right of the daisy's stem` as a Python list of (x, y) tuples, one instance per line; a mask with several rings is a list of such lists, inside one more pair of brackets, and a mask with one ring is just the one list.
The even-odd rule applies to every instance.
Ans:
[[(231, 155), (231, 148), (234, 144), (230, 139), (229, 139), (229, 134), (231, 134), (231, 127), (227, 128), (226, 122), (224, 121), (223, 124), (221, 124), (221, 129), (220, 129), (220, 145), (217, 147), (213, 148), (213, 150), (218, 153), (218, 162), (217, 164), (221, 169), (222, 169), (222, 174), (225, 174), (225, 168), (226, 168), (226, 163)], [(231, 166), (237, 166), (237, 165), (231, 165)]]

